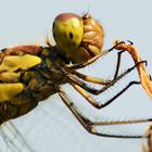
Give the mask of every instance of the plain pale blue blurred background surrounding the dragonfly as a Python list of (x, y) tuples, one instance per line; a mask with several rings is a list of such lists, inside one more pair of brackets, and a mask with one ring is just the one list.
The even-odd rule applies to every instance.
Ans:
[[(152, 1), (138, 0), (0, 0), (0, 49), (16, 45), (45, 45), (45, 38), (52, 38), (52, 23), (62, 12), (85, 14), (89, 12), (105, 30), (104, 49), (112, 47), (116, 38), (135, 42), (143, 60), (148, 61), (148, 72), (152, 74)], [(100, 78), (112, 78), (116, 64), (116, 52), (100, 59), (93, 65), (80, 71)], [(127, 53), (123, 54), (122, 71), (134, 65)], [(109, 99), (129, 80), (138, 79), (136, 72), (125, 77), (116, 87), (110, 89), (98, 101)], [(130, 88), (109, 107), (94, 110), (85, 100), (63, 86), (78, 107), (92, 119), (114, 121), (137, 117), (152, 117), (152, 101), (143, 89)], [(1, 128), (0, 151), (2, 152), (139, 152), (140, 139), (111, 139), (89, 135), (74, 118), (58, 96), (41, 103), (29, 114), (12, 121), (23, 138), (7, 123)], [(103, 131), (143, 134), (145, 125), (103, 128)], [(7, 136), (7, 137), (5, 137)], [(9, 139), (8, 139), (9, 138)], [(4, 139), (4, 140), (3, 140)], [(7, 140), (7, 141), (5, 141)], [(25, 145), (25, 140), (27, 144)]]

